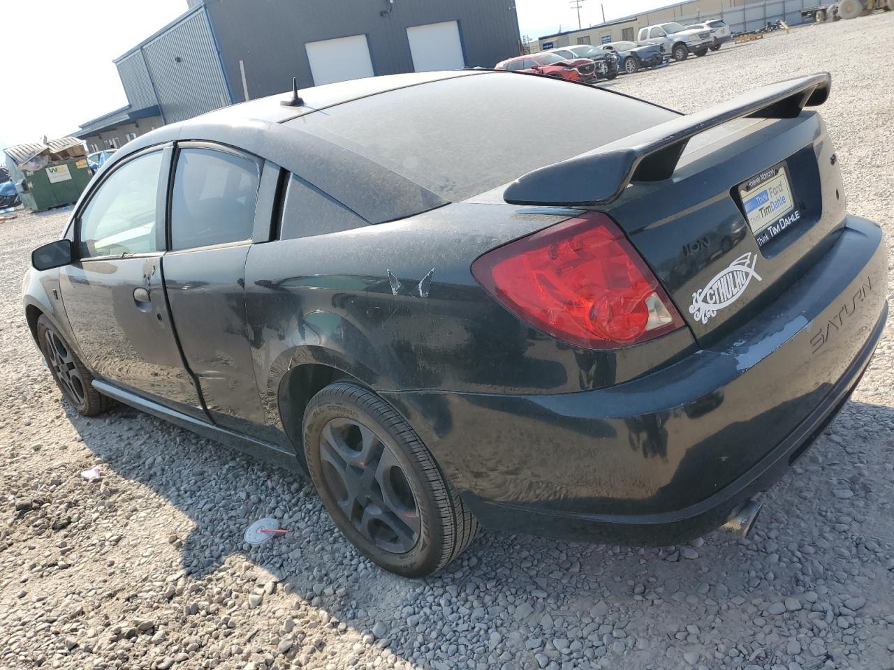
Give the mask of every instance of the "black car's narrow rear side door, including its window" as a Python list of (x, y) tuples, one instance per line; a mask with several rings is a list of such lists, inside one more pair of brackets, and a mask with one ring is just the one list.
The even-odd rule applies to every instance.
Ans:
[(270, 237), (278, 172), (207, 142), (181, 142), (174, 159), (162, 261), (171, 315), (209, 415), (240, 432), (264, 423), (246, 329), (245, 260), (253, 240)]

